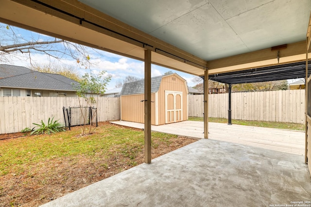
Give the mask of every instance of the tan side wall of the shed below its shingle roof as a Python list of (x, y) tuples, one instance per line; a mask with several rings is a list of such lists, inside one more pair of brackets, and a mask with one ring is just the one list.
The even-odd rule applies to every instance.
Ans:
[[(143, 94), (121, 96), (121, 120), (144, 123)], [(151, 101), (155, 101), (155, 94), (151, 94)], [(155, 125), (155, 102), (151, 103), (151, 124)]]

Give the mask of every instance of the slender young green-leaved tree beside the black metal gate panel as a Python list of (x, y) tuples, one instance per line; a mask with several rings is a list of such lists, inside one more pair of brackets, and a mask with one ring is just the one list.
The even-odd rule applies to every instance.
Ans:
[[(106, 90), (106, 86), (108, 82), (111, 80), (111, 76), (105, 75), (106, 71), (102, 71), (98, 75), (94, 74), (88, 74), (86, 73), (84, 76), (82, 76), (82, 79), (80, 81), (80, 85), (76, 87), (77, 89), (77, 95), (79, 97), (79, 105), (81, 109), (81, 114), (84, 119), (84, 125), (82, 129), (82, 136), (86, 134), (86, 120), (87, 116), (85, 111), (82, 110), (82, 103), (80, 98), (83, 98), (86, 101), (86, 107), (92, 107), (94, 104), (96, 104), (96, 109), (98, 106), (98, 97), (100, 94), (104, 94)], [(94, 97), (96, 96), (96, 98)], [(88, 134), (92, 134), (95, 130), (92, 130), (92, 120), (94, 118), (95, 114), (90, 119), (90, 125), (88, 129)]]

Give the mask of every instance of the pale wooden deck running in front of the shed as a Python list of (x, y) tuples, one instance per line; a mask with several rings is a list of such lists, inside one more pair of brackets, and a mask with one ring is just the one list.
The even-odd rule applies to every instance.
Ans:
[[(134, 128), (144, 127), (143, 124), (134, 122), (114, 121), (111, 123)], [(202, 139), (204, 138), (203, 127), (203, 122), (184, 121), (152, 126), (151, 129), (153, 131)], [(303, 131), (209, 122), (208, 132), (208, 138), (213, 140), (256, 146), (296, 155), (304, 155), (305, 153), (305, 132)]]

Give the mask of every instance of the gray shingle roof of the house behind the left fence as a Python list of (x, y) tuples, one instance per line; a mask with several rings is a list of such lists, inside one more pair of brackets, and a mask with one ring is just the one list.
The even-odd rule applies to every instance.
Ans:
[(0, 64), (0, 87), (76, 91), (79, 84), (62, 75), (40, 73), (26, 67)]

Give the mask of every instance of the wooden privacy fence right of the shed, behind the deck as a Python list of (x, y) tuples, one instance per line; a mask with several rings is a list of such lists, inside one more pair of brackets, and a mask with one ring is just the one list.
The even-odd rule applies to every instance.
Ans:
[[(232, 119), (305, 124), (305, 90), (232, 93)], [(188, 96), (189, 116), (203, 117), (203, 95)], [(208, 116), (228, 118), (228, 94), (208, 95)]]

